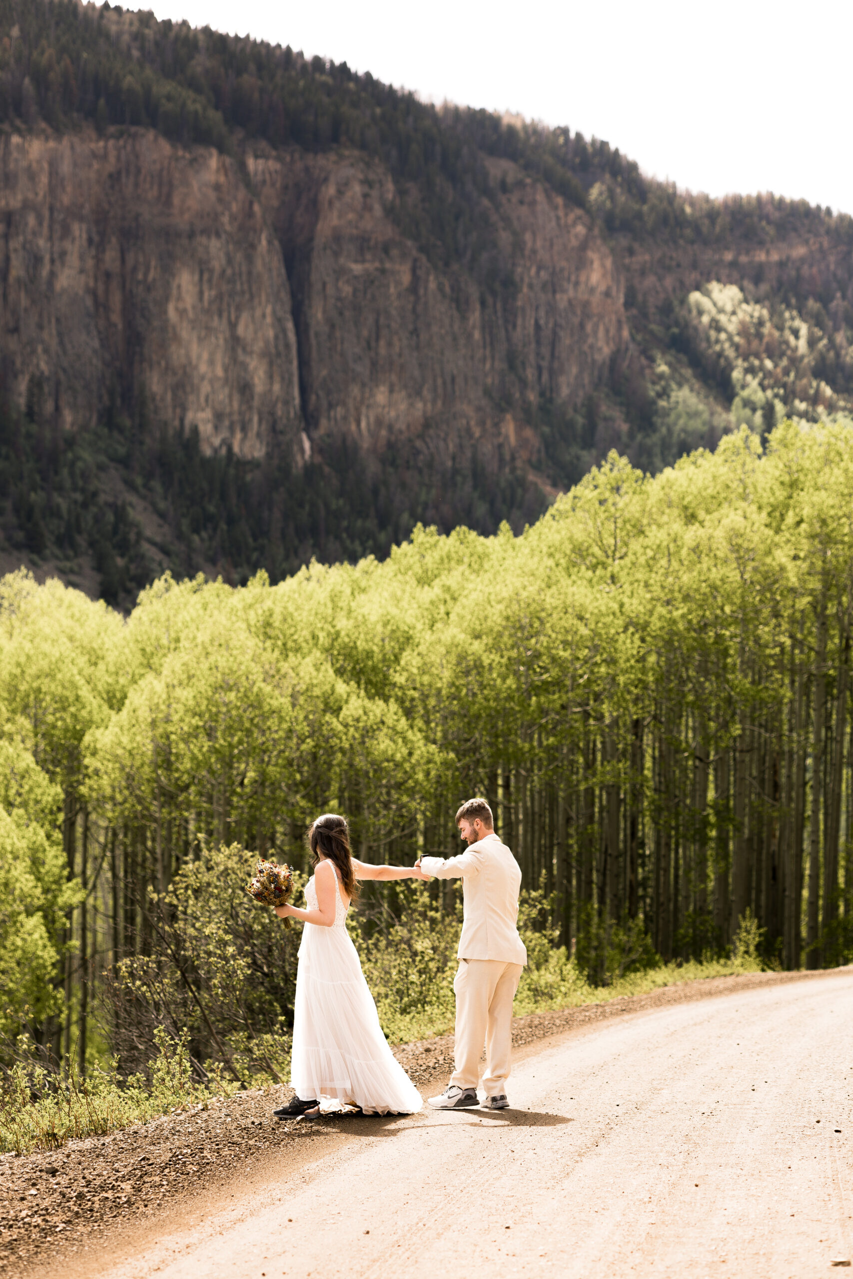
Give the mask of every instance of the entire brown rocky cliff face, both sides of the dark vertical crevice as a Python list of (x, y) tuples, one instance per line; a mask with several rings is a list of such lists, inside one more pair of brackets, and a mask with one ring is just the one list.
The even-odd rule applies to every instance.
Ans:
[(529, 457), (526, 407), (578, 403), (628, 341), (591, 220), (510, 164), (483, 208), (513, 280), (494, 292), (430, 265), (363, 156), (246, 166), (248, 184), (146, 130), (0, 138), (0, 359), (19, 402), (40, 382), (70, 428), (145, 390), (155, 418), (242, 457), (416, 435)]

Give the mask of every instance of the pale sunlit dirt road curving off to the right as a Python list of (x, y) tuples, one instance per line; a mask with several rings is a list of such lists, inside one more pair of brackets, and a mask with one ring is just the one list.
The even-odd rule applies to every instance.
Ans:
[(512, 1110), (348, 1120), (90, 1274), (822, 1275), (853, 1261), (852, 1031), (848, 972), (591, 1026), (518, 1064)]

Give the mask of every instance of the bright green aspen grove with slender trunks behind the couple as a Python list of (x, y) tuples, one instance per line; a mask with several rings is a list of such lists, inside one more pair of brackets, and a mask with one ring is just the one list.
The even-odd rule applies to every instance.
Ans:
[[(744, 936), (765, 967), (849, 959), (852, 486), (853, 423), (784, 421), (655, 477), (613, 453), (519, 537), (165, 576), (127, 618), (5, 577), (6, 1065), (23, 1044), (128, 1074), (168, 1033), (200, 1078), (283, 1077), (298, 931), (244, 884), (257, 853), (304, 875), (327, 810), (361, 858), (411, 862), (486, 796), (523, 870), (526, 1008)], [(393, 1037), (446, 1024), (458, 922), (453, 886), (364, 891)]]

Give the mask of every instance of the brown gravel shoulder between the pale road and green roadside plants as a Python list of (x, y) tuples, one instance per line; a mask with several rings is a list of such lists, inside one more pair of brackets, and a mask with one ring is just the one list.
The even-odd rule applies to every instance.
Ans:
[[(715, 977), (610, 1003), (533, 1013), (515, 1018), (513, 1040), (523, 1048), (627, 1013), (822, 976)], [(451, 1035), (395, 1051), (422, 1091), (446, 1082)], [(56, 1261), (82, 1239), (93, 1246), (110, 1232), (153, 1225), (159, 1216), (174, 1216), (198, 1196), (221, 1191), (270, 1159), (309, 1160), (312, 1145), (324, 1137), (322, 1122), (280, 1123), (271, 1115), (290, 1095), (285, 1087), (257, 1088), (109, 1137), (68, 1142), (58, 1151), (0, 1156), (0, 1274), (19, 1275), (35, 1262)], [(370, 1120), (348, 1120), (364, 1122)]]

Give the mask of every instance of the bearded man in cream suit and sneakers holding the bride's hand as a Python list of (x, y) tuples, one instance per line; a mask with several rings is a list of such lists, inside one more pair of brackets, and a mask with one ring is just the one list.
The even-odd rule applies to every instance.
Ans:
[(506, 844), (495, 834), (491, 808), (485, 799), (468, 799), (457, 813), (457, 826), (468, 844), (458, 857), (422, 857), (427, 876), (462, 876), (463, 923), (459, 969), (453, 982), (457, 995), (454, 1040), (455, 1071), (440, 1097), (430, 1097), (436, 1110), (478, 1105), (480, 1056), (486, 1044), (483, 1088), (489, 1110), (505, 1110), (513, 1044), (513, 999), (527, 963), (518, 935), (518, 890), (522, 871)]

